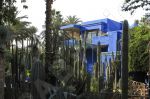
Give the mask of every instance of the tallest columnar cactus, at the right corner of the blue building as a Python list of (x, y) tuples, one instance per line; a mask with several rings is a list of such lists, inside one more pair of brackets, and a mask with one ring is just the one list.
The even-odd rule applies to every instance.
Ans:
[(122, 98), (128, 99), (128, 21), (123, 22), (122, 34)]

